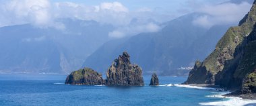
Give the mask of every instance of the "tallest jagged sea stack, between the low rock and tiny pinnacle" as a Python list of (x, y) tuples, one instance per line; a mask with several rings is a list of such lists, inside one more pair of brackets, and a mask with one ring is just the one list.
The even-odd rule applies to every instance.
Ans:
[(106, 85), (110, 86), (143, 86), (142, 69), (137, 64), (131, 64), (130, 56), (123, 52), (112, 63), (106, 72)]

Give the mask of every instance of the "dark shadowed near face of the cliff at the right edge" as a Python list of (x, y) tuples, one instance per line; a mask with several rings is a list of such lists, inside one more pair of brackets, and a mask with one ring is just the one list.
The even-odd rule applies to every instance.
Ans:
[(236, 47), (234, 58), (216, 74), (216, 85), (241, 93), (255, 93), (256, 28)]

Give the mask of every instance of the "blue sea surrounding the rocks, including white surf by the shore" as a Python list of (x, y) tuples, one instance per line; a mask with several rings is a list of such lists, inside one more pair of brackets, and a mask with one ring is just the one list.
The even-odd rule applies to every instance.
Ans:
[(160, 86), (65, 85), (65, 74), (0, 74), (0, 105), (256, 105), (255, 100), (224, 97), (228, 91), (180, 85), (185, 76), (158, 76)]

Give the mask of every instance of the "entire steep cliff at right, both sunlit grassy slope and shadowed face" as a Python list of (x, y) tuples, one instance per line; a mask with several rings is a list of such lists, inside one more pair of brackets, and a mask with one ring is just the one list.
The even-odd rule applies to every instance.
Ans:
[(216, 50), (199, 66), (196, 62), (185, 83), (220, 85), (245, 99), (256, 99), (256, 1), (238, 27), (226, 32)]

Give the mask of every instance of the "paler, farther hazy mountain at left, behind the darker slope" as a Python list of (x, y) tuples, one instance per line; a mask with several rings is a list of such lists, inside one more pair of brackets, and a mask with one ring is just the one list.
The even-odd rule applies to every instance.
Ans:
[(104, 42), (112, 25), (59, 19), (64, 30), (12, 25), (0, 28), (0, 72), (69, 73)]

